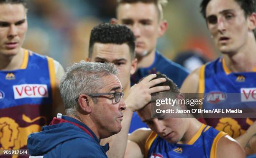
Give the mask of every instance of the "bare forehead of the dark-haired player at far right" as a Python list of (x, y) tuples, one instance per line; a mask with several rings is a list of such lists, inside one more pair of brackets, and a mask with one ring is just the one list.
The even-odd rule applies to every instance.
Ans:
[(210, 0), (206, 7), (206, 17), (238, 10), (241, 10), (241, 7), (236, 0)]

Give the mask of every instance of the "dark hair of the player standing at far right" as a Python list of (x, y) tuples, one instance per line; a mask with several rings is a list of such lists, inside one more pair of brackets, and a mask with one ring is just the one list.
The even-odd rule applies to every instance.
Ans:
[[(235, 0), (235, 1), (242, 8), (245, 17), (255, 12), (254, 0)], [(206, 8), (209, 2), (210, 0), (202, 0), (202, 3), (200, 5), (201, 13), (204, 18), (206, 18)]]

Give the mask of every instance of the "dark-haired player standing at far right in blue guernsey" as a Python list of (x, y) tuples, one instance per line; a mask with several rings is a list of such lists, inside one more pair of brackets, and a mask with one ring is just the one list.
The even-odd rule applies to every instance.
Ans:
[[(254, 7), (253, 0), (202, 1), (201, 13), (215, 45), (223, 55), (191, 73), (182, 85), (182, 93), (236, 93), (241, 95), (237, 102), (241, 105), (256, 101), (253, 94), (256, 91)], [(246, 97), (245, 95), (254, 96)], [(237, 140), (243, 147), (256, 131), (253, 126), (249, 128), (255, 120), (253, 118), (207, 118), (205, 120), (208, 125), (225, 131), (233, 138), (242, 135)]]

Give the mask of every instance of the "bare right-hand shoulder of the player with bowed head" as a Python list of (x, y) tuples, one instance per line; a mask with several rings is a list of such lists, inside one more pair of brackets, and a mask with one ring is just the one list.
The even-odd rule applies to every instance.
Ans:
[(217, 144), (217, 158), (245, 158), (246, 154), (236, 140), (228, 135), (220, 138)]

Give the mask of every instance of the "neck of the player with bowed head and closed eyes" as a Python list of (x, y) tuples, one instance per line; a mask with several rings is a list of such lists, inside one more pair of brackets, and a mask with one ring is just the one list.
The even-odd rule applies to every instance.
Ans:
[(180, 144), (187, 144), (195, 136), (198, 130), (201, 128), (202, 123), (200, 123), (195, 118), (187, 118), (189, 121), (187, 123), (187, 132), (184, 133), (183, 138), (179, 141)]

